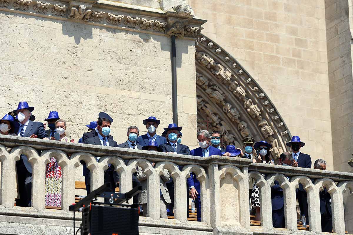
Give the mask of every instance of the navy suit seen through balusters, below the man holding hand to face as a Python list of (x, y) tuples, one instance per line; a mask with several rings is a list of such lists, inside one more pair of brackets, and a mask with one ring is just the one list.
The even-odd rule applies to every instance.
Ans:
[(283, 189), (278, 181), (275, 180), (274, 183), (275, 185), (271, 186), (272, 226), (274, 228), (285, 228)]

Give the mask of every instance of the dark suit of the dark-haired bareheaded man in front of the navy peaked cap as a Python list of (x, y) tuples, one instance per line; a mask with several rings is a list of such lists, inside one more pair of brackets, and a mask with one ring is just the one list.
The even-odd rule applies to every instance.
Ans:
[[(102, 142), (99, 139), (99, 136), (94, 136), (86, 139), (85, 141), (86, 144), (89, 145), (100, 145), (102, 146)], [(116, 143), (114, 140), (108, 138), (108, 143), (109, 147), (118, 147), (118, 143)], [(87, 169), (88, 170), (88, 169)], [(109, 166), (108, 170), (105, 170), (104, 172), (104, 183), (105, 182), (110, 182), (110, 191), (115, 193), (115, 188), (116, 188), (116, 182), (117, 182), (117, 176), (118, 174), (116, 171), (114, 171), (113, 166)], [(91, 190), (91, 177), (85, 177), (86, 181), (86, 191), (89, 194)], [(88, 181), (88, 182), (87, 182)], [(89, 187), (87, 188), (87, 184), (89, 184)]]

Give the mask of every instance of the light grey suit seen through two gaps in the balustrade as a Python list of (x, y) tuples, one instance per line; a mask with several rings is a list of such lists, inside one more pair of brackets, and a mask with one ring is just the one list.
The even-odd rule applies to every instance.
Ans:
[[(147, 181), (146, 175), (142, 173), (142, 168), (139, 166), (137, 167), (137, 178), (141, 183), (142, 192), (138, 196), (138, 204), (142, 205), (143, 215), (148, 215), (148, 208), (147, 208)], [(167, 204), (171, 203), (168, 188), (166, 186), (166, 182), (170, 180), (170, 175), (167, 169), (163, 170), (163, 175), (161, 175), (159, 180), (159, 188), (161, 192), (160, 196), (160, 212), (161, 218), (168, 218), (167, 217)]]

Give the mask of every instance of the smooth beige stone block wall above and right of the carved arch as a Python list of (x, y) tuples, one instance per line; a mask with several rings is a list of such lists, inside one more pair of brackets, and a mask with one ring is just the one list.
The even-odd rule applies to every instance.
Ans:
[(313, 161), (333, 169), (324, 0), (189, 0), (219, 43), (259, 83)]

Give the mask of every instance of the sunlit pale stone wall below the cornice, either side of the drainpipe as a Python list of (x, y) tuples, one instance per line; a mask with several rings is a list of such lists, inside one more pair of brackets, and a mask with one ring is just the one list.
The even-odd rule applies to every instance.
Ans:
[[(10, 12), (0, 12), (0, 31), (1, 117), (28, 101), (36, 121), (58, 111), (76, 142), (102, 111), (118, 143), (130, 125), (144, 134), (146, 117), (161, 119), (157, 134), (172, 122), (169, 37)], [(178, 39), (177, 56), (179, 124), (192, 146), (195, 41)]]

